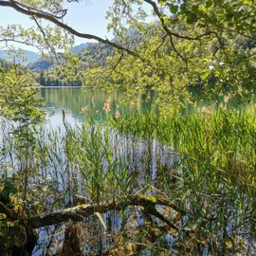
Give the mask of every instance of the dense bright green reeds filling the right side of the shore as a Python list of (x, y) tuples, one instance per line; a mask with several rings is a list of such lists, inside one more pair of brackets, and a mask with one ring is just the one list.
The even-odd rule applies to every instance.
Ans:
[[(242, 229), (255, 232), (255, 124), (254, 109), (238, 112), (219, 108), (210, 116), (199, 112), (165, 119), (122, 117), (114, 126), (123, 134), (145, 139), (149, 127), (152, 137), (180, 155), (174, 186), (169, 184), (167, 169), (161, 172), (164, 189), (163, 184), (159, 188), (197, 219), (195, 226), (191, 226), (192, 219), (184, 224), (196, 230), (194, 241), (203, 239), (201, 246), (226, 251), (228, 242), (234, 247), (241, 238)], [(216, 219), (198, 218), (202, 214)]]

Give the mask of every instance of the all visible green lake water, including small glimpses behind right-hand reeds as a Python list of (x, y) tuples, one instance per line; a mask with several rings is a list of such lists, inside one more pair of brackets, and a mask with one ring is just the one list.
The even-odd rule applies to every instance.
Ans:
[[(40, 90), (40, 96), (46, 101), (46, 113), (49, 122), (54, 127), (62, 126), (63, 110), (66, 119), (71, 123), (81, 121), (82, 119), (93, 118), (96, 121), (106, 120), (106, 111), (104, 108), (106, 102), (109, 103), (109, 115), (115, 117), (117, 110), (120, 116), (125, 114), (143, 114), (146, 112), (157, 112), (154, 104), (156, 95), (154, 92), (147, 94), (138, 94), (137, 99), (132, 103), (125, 103), (124, 93), (122, 91), (108, 93), (103, 90), (89, 89), (83, 91), (81, 87), (44, 87)], [(200, 108), (221, 105), (223, 98), (217, 101), (197, 101)], [(255, 108), (256, 97), (250, 104), (241, 104), (236, 100), (229, 101), (229, 107), (236, 109)], [(192, 105), (187, 105), (184, 113), (191, 113)]]

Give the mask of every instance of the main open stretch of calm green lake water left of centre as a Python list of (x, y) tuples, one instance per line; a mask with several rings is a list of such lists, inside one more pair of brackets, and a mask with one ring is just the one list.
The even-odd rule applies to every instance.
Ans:
[(121, 91), (107, 93), (103, 90), (90, 89), (82, 91), (81, 88), (42, 88), (41, 97), (46, 101), (46, 112), (49, 114), (51, 122), (59, 124), (62, 120), (64, 110), (67, 119), (81, 120), (92, 117), (95, 120), (106, 119), (103, 109), (106, 102), (109, 103), (109, 114), (115, 115), (117, 110), (120, 115), (145, 113), (155, 109), (152, 104), (154, 94), (138, 95), (137, 102), (124, 103)]

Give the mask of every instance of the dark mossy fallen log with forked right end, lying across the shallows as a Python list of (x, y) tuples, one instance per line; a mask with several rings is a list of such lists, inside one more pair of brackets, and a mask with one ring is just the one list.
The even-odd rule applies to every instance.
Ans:
[[(19, 245), (19, 250), (24, 250), (27, 252), (31, 252), (33, 246), (36, 243), (36, 236), (34, 233), (34, 229), (50, 226), (50, 225), (56, 225), (67, 221), (73, 221), (75, 224), (71, 225), (65, 230), (65, 242), (64, 242), (64, 249), (66, 248), (66, 253), (63, 255), (70, 255), (68, 252), (68, 247), (73, 247), (73, 254), (72, 255), (81, 255), (80, 251), (80, 243), (79, 243), (79, 232), (78, 232), (78, 226), (80, 221), (82, 221), (85, 217), (91, 216), (95, 214), (96, 212), (99, 213), (105, 213), (110, 210), (124, 210), (127, 207), (142, 207), (144, 212), (146, 212), (150, 216), (155, 216), (157, 219), (162, 221), (163, 223), (167, 224), (169, 228), (174, 229), (175, 231), (185, 231), (188, 232), (190, 230), (188, 229), (181, 229), (178, 228), (173, 220), (170, 220), (170, 218), (166, 218), (164, 214), (162, 214), (159, 210), (156, 210), (156, 205), (165, 206), (172, 210), (175, 210), (178, 212), (179, 215), (185, 215), (189, 214), (185, 210), (180, 209), (176, 204), (170, 201), (167, 197), (163, 196), (144, 196), (142, 194), (137, 194), (134, 196), (129, 196), (123, 200), (119, 201), (112, 201), (108, 204), (95, 204), (95, 205), (79, 205), (73, 208), (68, 208), (64, 210), (60, 210), (57, 212), (52, 213), (46, 213), (45, 215), (36, 215), (29, 217), (28, 219), (23, 219), (23, 229), (26, 230), (26, 243), (24, 242), (23, 245)], [(9, 208), (5, 204), (0, 204), (0, 210), (2, 212), (5, 212), (5, 214), (8, 215), (9, 219), (11, 220), (17, 220), (17, 215), (12, 212), (12, 210), (9, 210)], [(203, 216), (204, 217), (204, 216)], [(207, 216), (206, 219), (210, 220)], [(212, 220), (212, 219), (211, 219)], [(154, 232), (153, 232), (154, 233)], [(149, 239), (150, 241), (151, 239)], [(153, 239), (154, 240), (154, 239)], [(143, 242), (143, 241), (142, 241)], [(71, 243), (71, 244), (70, 244)], [(144, 242), (143, 242), (144, 243)], [(137, 247), (136, 244), (132, 245), (132, 247)], [(113, 250), (114, 252), (114, 250)], [(12, 254), (15, 255), (15, 254)], [(29, 255), (26, 252), (24, 254), (20, 255)], [(124, 254), (123, 254), (124, 255)]]

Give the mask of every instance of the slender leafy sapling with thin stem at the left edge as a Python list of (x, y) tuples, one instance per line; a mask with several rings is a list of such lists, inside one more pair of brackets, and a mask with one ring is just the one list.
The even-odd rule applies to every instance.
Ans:
[(40, 110), (43, 101), (38, 99), (38, 88), (34, 81), (18, 65), (0, 69), (0, 113), (5, 119), (14, 121), (10, 136), (14, 138), (21, 159), (20, 170), (24, 176), (23, 200), (27, 198), (28, 159), (34, 143), (34, 125), (44, 119)]

